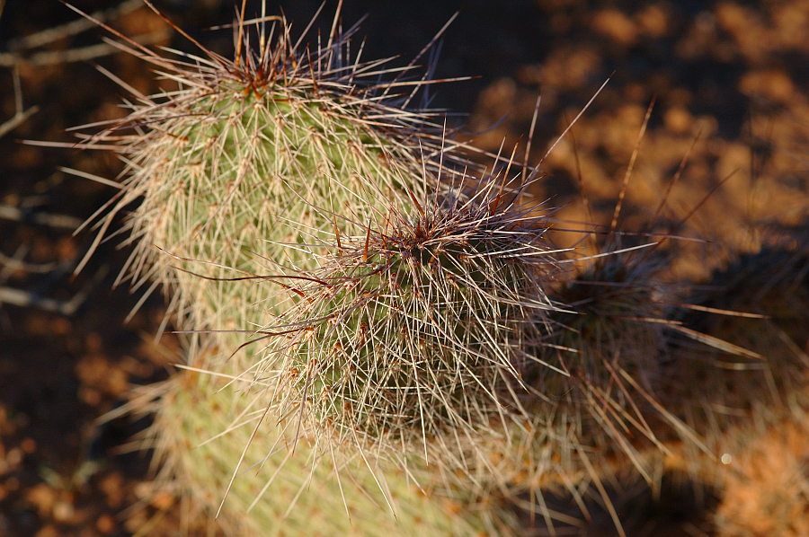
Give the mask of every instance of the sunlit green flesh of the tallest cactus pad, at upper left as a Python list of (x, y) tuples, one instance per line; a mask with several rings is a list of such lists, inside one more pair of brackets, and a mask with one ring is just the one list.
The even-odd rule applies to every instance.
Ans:
[(193, 304), (195, 330), (253, 330), (280, 287), (232, 280), (311, 268), (308, 244), (337, 225), (358, 233), (355, 223), (375, 216), (357, 203), (362, 189), (396, 199), (408, 175), (382, 136), (327, 100), (222, 86), (150, 110), (154, 129), (128, 149), (129, 184), (144, 196), (132, 219), (144, 250), (134, 269), (149, 267)]

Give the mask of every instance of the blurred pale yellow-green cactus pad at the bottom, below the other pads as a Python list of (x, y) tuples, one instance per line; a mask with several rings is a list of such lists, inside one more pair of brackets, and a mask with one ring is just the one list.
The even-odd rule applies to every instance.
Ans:
[[(211, 361), (204, 354), (196, 353), (198, 362)], [(434, 466), (403, 470), (342, 457), (304, 439), (290, 456), (283, 427), (262, 421), (261, 406), (220, 376), (237, 373), (176, 375), (140, 401), (143, 408), (156, 398), (150, 432), (161, 471), (155, 489), (189, 498), (201, 515), (218, 514), (228, 534), (511, 534), (515, 524), (507, 511), (473, 490), (445, 484)], [(244, 445), (250, 448), (243, 453)], [(229, 482), (236, 462), (239, 475)]]

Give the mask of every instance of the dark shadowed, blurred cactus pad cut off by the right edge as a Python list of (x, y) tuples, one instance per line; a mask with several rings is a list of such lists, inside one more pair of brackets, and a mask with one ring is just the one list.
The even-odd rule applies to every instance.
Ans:
[[(752, 431), (783, 421), (805, 423), (809, 409), (805, 239), (775, 239), (756, 253), (734, 257), (716, 270), (703, 290), (694, 292), (693, 303), (701, 311), (683, 321), (692, 330), (751, 351), (741, 357), (721, 348), (680, 352), (680, 383), (665, 386), (667, 406), (687, 416), (691, 426), (703, 432), (711, 452), (725, 455), (725, 461), (747, 451), (756, 436)], [(703, 480), (724, 485), (723, 472), (706, 457), (683, 457), (681, 463)]]

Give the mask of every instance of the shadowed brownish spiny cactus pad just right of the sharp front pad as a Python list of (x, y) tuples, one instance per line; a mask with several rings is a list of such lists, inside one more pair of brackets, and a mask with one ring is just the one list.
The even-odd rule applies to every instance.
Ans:
[(619, 236), (610, 234), (601, 254), (566, 260), (577, 269), (548, 290), (564, 307), (548, 313), (550, 330), (533, 347), (538, 360), (521, 377), (529, 390), (520, 396), (528, 418), (514, 430), (511, 444), (485, 446), (495, 467), (490, 480), (509, 489), (520, 509), (542, 515), (549, 528), (555, 516), (545, 496), (566, 497), (589, 517), (582, 491), (592, 486), (618, 533), (625, 534), (609, 481), (628, 473), (657, 487), (646, 453), (670, 453), (662, 440), (672, 433), (698, 444), (659, 402), (669, 358), (671, 288), (661, 277), (668, 253), (653, 251), (657, 242), (619, 248)]

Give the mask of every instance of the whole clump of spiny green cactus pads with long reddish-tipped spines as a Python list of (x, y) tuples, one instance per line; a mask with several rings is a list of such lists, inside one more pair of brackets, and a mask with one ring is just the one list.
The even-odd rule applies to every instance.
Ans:
[(628, 460), (654, 485), (672, 437), (710, 451), (687, 397), (660, 398), (688, 377), (671, 332), (741, 348), (672, 320), (665, 260), (615, 222), (565, 258), (525, 181), (465, 170), (409, 107), (422, 80), (351, 61), (353, 29), (315, 51), (280, 18), (257, 49), (237, 29), (232, 61), (139, 48), (179, 89), (88, 144), (129, 166), (99, 237), (140, 200), (129, 277), (202, 342), (155, 401), (162, 483), (232, 533), (369, 535), (507, 535), (526, 493), (552, 528), (543, 490), (594, 483), (622, 533), (602, 477)]

